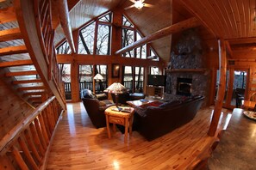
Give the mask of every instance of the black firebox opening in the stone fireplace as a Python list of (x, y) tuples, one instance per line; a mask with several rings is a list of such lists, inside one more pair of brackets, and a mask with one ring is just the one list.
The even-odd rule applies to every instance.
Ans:
[(191, 78), (177, 78), (177, 94), (178, 95), (191, 95), (191, 86), (192, 79)]

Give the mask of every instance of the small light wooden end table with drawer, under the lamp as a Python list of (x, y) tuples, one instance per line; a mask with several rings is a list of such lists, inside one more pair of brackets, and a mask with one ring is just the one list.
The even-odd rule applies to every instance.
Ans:
[(109, 106), (105, 110), (106, 115), (106, 124), (107, 124), (107, 131), (108, 136), (111, 138), (109, 123), (113, 124), (113, 131), (116, 132), (116, 124), (121, 124), (125, 127), (124, 132), (124, 143), (128, 142), (128, 130), (129, 130), (129, 136), (132, 135), (133, 131), (133, 120), (134, 120), (134, 108), (132, 107), (124, 107), (121, 106), (120, 108), (125, 109), (129, 108), (129, 112), (122, 112), (122, 111), (115, 111), (116, 106)]

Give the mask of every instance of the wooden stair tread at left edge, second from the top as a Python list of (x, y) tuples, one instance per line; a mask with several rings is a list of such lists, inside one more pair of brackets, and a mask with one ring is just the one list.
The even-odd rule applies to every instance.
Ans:
[(14, 39), (22, 39), (20, 28), (5, 29), (0, 31), (0, 42)]

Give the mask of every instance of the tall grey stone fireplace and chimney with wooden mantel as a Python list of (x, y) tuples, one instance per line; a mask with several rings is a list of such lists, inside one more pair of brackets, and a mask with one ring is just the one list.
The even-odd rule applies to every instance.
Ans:
[(184, 96), (203, 95), (209, 99), (209, 71), (205, 67), (201, 39), (196, 29), (182, 33), (171, 52), (166, 70), (165, 100), (179, 100)]

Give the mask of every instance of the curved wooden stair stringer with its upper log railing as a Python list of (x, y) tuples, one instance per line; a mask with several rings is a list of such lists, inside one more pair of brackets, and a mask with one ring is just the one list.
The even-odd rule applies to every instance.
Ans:
[(34, 67), (47, 87), (47, 93), (56, 96), (62, 108), (66, 108), (64, 84), (59, 77), (53, 45), (51, 0), (16, 0), (17, 21), (24, 43)]

